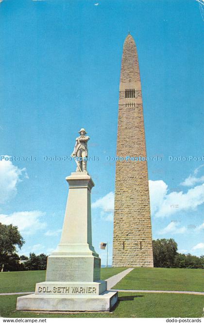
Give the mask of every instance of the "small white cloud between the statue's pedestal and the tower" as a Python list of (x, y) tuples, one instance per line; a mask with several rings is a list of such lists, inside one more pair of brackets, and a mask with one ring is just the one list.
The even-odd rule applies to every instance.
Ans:
[(101, 218), (104, 221), (113, 221), (114, 193), (110, 192), (92, 203), (91, 207), (101, 209)]

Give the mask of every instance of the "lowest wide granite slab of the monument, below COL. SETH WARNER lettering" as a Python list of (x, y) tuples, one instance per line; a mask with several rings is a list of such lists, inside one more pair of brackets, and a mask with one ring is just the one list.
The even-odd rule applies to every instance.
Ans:
[(105, 291), (101, 295), (31, 294), (17, 298), (17, 310), (110, 311), (117, 300), (117, 291)]

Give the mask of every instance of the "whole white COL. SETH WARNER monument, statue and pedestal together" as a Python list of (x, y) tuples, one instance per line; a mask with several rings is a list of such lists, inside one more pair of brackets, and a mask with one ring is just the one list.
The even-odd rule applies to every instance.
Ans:
[(91, 189), (86, 171), (87, 141), (82, 128), (71, 154), (76, 172), (66, 178), (69, 185), (61, 241), (48, 257), (46, 281), (37, 283), (35, 293), (17, 298), (18, 310), (109, 311), (118, 293), (107, 291), (100, 280), (101, 259), (92, 245)]

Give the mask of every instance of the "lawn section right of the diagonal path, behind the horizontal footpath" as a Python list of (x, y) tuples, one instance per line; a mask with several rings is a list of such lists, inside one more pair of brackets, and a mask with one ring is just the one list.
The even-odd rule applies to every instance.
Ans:
[(203, 291), (204, 270), (135, 268), (114, 286), (120, 290)]

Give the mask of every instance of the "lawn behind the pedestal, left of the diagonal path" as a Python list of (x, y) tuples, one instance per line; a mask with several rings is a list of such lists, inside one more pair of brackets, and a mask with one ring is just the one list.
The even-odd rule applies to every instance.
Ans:
[[(107, 279), (126, 268), (102, 268), (101, 279)], [(0, 293), (34, 291), (35, 284), (45, 280), (45, 270), (0, 273)]]

